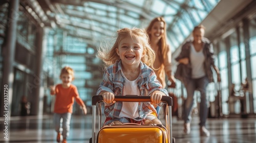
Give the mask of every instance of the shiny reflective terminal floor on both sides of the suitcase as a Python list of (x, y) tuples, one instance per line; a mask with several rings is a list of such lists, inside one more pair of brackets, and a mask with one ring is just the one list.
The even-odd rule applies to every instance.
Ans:
[[(56, 142), (52, 115), (11, 117), (8, 120), (8, 140), (3, 136), (4, 118), (0, 118), (0, 142)], [(199, 118), (193, 116), (191, 133), (183, 134), (183, 121), (173, 117), (173, 136), (176, 142), (255, 142), (255, 118), (209, 118), (207, 129), (210, 137), (200, 137)], [(72, 115), (68, 142), (89, 142), (92, 136), (92, 115)]]

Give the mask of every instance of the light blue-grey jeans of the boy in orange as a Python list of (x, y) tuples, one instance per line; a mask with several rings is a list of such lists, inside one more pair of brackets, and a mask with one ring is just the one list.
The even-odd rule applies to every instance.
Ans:
[[(60, 127), (62, 127), (62, 136), (64, 139), (69, 136), (71, 114), (72, 113), (62, 113), (62, 114), (54, 113), (53, 115), (55, 131), (57, 133), (60, 132)], [(62, 118), (62, 124), (60, 122), (61, 118)]]

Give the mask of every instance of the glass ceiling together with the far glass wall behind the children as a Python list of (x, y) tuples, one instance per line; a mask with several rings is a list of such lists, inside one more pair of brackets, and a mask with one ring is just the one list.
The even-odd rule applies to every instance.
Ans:
[(102, 80), (100, 61), (95, 57), (96, 48), (102, 41), (111, 39), (118, 29), (146, 28), (153, 18), (163, 16), (167, 23), (168, 43), (174, 52), (220, 0), (37, 2), (53, 27), (47, 39), (47, 57), (48, 63), (54, 61), (56, 66), (51, 65), (52, 69), (46, 70), (52, 71), (58, 79), (61, 67), (72, 66), (77, 79), (74, 84), (80, 94), (90, 94), (90, 97), (81, 96), (83, 100), (90, 100)]

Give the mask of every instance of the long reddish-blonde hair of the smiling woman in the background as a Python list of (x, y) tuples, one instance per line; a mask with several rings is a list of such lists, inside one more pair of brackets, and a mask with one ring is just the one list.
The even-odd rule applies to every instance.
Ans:
[(167, 45), (166, 45), (166, 43), (167, 43), (166, 22), (165, 22), (164, 18), (163, 18), (163, 17), (156, 17), (156, 18), (154, 18), (154, 19), (150, 22), (150, 25), (148, 25), (148, 27), (147, 27), (147, 29), (146, 29), (146, 32), (147, 32), (148, 37), (151, 38), (150, 32), (151, 32), (151, 30), (152, 30), (152, 28), (153, 28), (154, 23), (155, 23), (155, 22), (158, 22), (158, 21), (164, 23), (164, 33), (163, 33), (161, 39), (160, 39), (159, 42), (158, 42), (158, 46), (159, 46), (159, 52), (158, 52), (158, 54), (159, 54), (159, 55), (157, 55), (157, 56), (160, 57), (161, 63), (163, 63), (163, 61), (164, 61), (164, 59), (165, 59), (165, 55), (166, 55), (166, 53), (167, 53)]

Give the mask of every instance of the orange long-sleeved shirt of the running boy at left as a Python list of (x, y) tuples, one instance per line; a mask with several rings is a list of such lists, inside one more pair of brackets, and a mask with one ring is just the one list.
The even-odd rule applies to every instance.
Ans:
[(56, 95), (54, 113), (72, 113), (74, 99), (78, 105), (85, 107), (75, 85), (71, 84), (69, 88), (63, 88), (61, 84), (58, 84), (55, 87), (55, 93), (51, 92), (51, 94)]

